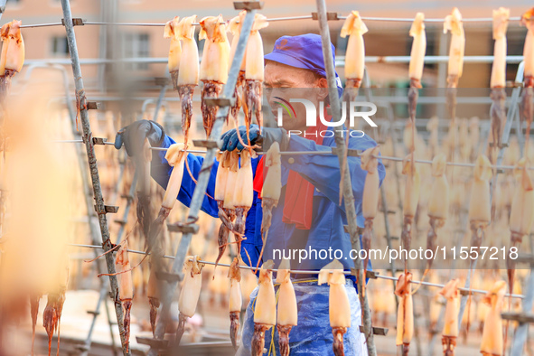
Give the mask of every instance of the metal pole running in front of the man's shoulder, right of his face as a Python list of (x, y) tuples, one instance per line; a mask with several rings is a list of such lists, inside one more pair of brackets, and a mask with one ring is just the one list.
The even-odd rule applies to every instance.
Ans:
[[(326, 70), (326, 79), (328, 80), (328, 93), (330, 98), (330, 104), (332, 106), (332, 115), (335, 121), (338, 121), (341, 115), (340, 100), (338, 98), (337, 85), (335, 81), (335, 68), (332, 58), (332, 47), (330, 46), (330, 30), (328, 27), (328, 20), (326, 19), (326, 4), (324, 0), (316, 0), (317, 14), (319, 16), (319, 28), (321, 30), (321, 39), (323, 42), (323, 57), (324, 67)], [(349, 233), (351, 234), (352, 248), (356, 251), (360, 251), (360, 237), (358, 236), (358, 226), (356, 225), (356, 209), (354, 207), (354, 196), (352, 194), (351, 186), (351, 173), (349, 171), (348, 163), (343, 157), (345, 151), (345, 141), (340, 132), (336, 132), (335, 145), (338, 150), (338, 158), (340, 162), (340, 168), (342, 164), (345, 164), (343, 179), (343, 200), (345, 201), (345, 214), (347, 222), (349, 224)], [(367, 300), (367, 296), (361, 293), (365, 284), (365, 276), (363, 275), (363, 269), (361, 267), (361, 259), (354, 259), (354, 268), (358, 273), (358, 295), (360, 297), (360, 304), (362, 309), (362, 325), (363, 332), (365, 334), (365, 340), (367, 344), (367, 351), (370, 356), (375, 356), (377, 351), (375, 349), (371, 320), (370, 320), (370, 307)]]

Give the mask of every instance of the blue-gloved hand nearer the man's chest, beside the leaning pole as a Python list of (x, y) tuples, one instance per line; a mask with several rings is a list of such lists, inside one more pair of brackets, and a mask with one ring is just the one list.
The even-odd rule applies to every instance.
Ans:
[[(237, 129), (231, 129), (222, 136), (222, 151), (233, 151), (236, 148), (238, 151), (243, 150), (245, 147), (239, 142), (239, 136), (245, 144), (248, 144), (247, 140), (247, 127), (239, 126)], [(261, 150), (267, 152), (267, 149), (274, 143), (277, 142), (280, 145), (280, 150), (285, 151), (287, 149), (287, 144), (289, 143), (289, 138), (287, 137), (287, 132), (283, 128), (272, 128), (272, 127), (263, 127), (261, 134), (259, 133), (258, 125), (251, 125), (248, 133), (250, 138), (250, 145), (259, 145)]]

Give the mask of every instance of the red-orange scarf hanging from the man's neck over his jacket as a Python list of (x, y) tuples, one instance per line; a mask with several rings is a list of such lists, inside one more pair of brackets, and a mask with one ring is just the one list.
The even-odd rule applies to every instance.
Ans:
[[(325, 110), (326, 111), (326, 110)], [(330, 117), (324, 116), (329, 121)], [(317, 126), (310, 126), (305, 131), (304, 138), (312, 140), (317, 145), (323, 145), (321, 132), (327, 126), (317, 117)], [(316, 135), (316, 136), (315, 136)], [(268, 167), (264, 164), (264, 156), (259, 160), (254, 177), (254, 191), (258, 192), (261, 199), (261, 189), (263, 188), (264, 177), (267, 175)], [(295, 224), (296, 229), (310, 230), (312, 227), (312, 214), (314, 213), (314, 185), (306, 181), (299, 173), (289, 171), (286, 184), (286, 200), (284, 201), (284, 216), (282, 221), (286, 224)]]

